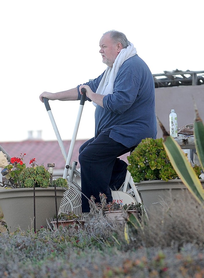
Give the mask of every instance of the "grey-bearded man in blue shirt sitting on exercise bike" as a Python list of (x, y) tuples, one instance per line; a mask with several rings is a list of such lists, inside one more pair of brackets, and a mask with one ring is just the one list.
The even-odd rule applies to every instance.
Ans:
[[(106, 32), (99, 46), (108, 66), (105, 72), (68, 91), (43, 92), (40, 100), (79, 100), (81, 88), (86, 89), (86, 99), (96, 106), (95, 136), (79, 149), (81, 190), (96, 202), (100, 202), (99, 193), (105, 193), (111, 202), (111, 189), (119, 189), (127, 171), (119, 156), (133, 150), (143, 138), (156, 138), (154, 80), (123, 33)], [(90, 211), (83, 195), (82, 211)]]

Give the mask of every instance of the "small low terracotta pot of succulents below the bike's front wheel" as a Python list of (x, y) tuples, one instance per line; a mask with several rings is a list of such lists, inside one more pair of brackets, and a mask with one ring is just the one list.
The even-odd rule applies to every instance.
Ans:
[[(54, 217), (54, 221), (50, 222), (55, 228), (57, 228), (57, 219), (56, 215)], [(76, 215), (72, 212), (67, 212), (67, 213), (60, 213), (58, 215), (58, 226), (63, 226), (63, 227), (74, 227), (76, 230), (78, 230), (79, 227), (84, 226), (84, 221), (81, 220), (81, 215)]]

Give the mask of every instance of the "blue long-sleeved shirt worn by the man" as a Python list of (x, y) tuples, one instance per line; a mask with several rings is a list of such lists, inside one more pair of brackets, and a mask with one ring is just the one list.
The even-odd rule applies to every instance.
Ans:
[[(84, 85), (95, 93), (103, 74)], [(154, 94), (154, 79), (146, 63), (138, 55), (126, 60), (116, 75), (113, 94), (103, 98), (103, 107), (96, 107), (95, 138), (111, 130), (110, 138), (128, 148), (144, 138), (156, 138)]]

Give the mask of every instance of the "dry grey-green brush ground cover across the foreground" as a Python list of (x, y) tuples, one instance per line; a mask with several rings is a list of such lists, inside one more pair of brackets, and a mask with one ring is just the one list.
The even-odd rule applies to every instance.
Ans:
[(151, 211), (137, 230), (101, 218), (83, 230), (0, 234), (0, 277), (202, 278), (204, 213), (189, 194)]

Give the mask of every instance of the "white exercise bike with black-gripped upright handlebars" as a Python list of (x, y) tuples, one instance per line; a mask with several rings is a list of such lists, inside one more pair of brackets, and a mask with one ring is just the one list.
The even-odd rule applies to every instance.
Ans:
[[(56, 134), (62, 155), (65, 159), (65, 168), (64, 168), (63, 178), (67, 179), (68, 185), (69, 185), (69, 189), (64, 192), (64, 197), (61, 200), (58, 215), (62, 212), (67, 213), (69, 211), (76, 215), (81, 215), (81, 220), (82, 220), (83, 213), (82, 213), (82, 209), (81, 209), (81, 194), (82, 194), (82, 192), (81, 192), (81, 173), (80, 173), (80, 171), (78, 171), (76, 169), (77, 162), (73, 161), (71, 163), (74, 144), (76, 141), (77, 131), (79, 128), (79, 122), (81, 119), (81, 114), (82, 114), (85, 97), (86, 97), (85, 88), (82, 88), (81, 91), (83, 94), (81, 96), (77, 120), (75, 123), (74, 132), (72, 135), (68, 154), (66, 153), (65, 147), (63, 145), (59, 131), (57, 129), (57, 125), (56, 125), (54, 117), (52, 115), (52, 111), (51, 111), (50, 105), (48, 103), (48, 98), (43, 98), (43, 101), (44, 101), (45, 107), (48, 111), (48, 115), (50, 117), (54, 132)], [(55, 178), (57, 178), (57, 177), (53, 177), (53, 179), (55, 179)], [(127, 174), (125, 177), (125, 182), (122, 186), (122, 190), (112, 191), (112, 197), (113, 197), (114, 202), (117, 202), (119, 204), (131, 204), (132, 202), (133, 203), (142, 203), (139, 193), (136, 189), (136, 186), (134, 184), (134, 181), (133, 181), (129, 171), (127, 171)]]

